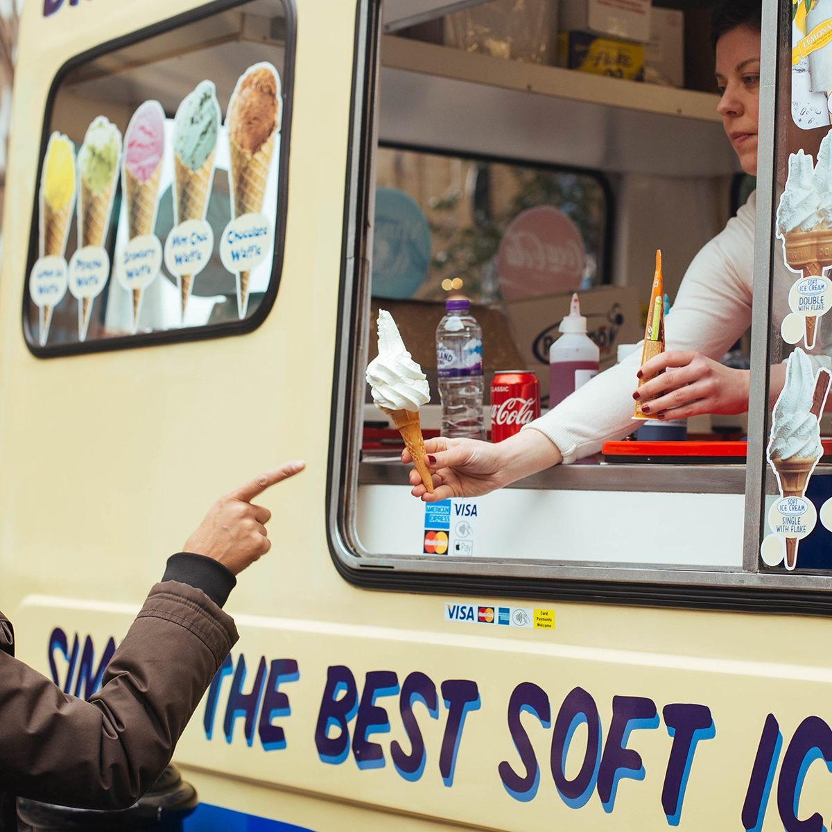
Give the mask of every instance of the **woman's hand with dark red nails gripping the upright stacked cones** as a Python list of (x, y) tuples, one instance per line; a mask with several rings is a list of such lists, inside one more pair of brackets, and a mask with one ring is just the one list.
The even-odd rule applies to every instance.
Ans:
[(632, 397), (644, 403), (641, 411), (650, 418), (730, 415), (748, 410), (748, 370), (731, 369), (701, 353), (661, 353), (641, 367), (638, 377), (650, 380)]

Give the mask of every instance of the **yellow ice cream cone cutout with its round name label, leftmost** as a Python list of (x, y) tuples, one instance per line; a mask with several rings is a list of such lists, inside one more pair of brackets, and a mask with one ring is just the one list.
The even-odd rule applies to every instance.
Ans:
[(29, 293), (38, 309), (41, 346), (49, 337), (52, 310), (67, 291), (67, 265), (63, 260), (76, 190), (75, 146), (62, 133), (52, 133), (41, 175), (39, 257), (29, 283)]

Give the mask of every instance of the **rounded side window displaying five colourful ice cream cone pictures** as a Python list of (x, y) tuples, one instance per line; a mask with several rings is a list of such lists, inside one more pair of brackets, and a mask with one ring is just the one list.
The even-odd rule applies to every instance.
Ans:
[(59, 73), (24, 295), (35, 354), (247, 331), (274, 302), (294, 16), (212, 8)]

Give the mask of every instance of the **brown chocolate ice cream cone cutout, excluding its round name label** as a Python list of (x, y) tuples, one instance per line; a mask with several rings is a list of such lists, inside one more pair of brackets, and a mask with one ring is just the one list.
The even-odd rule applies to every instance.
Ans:
[[(226, 126), (230, 148), (231, 219), (260, 214), (275, 137), (280, 131), (280, 75), (270, 63), (249, 67), (238, 80), (228, 106)], [(245, 318), (249, 304), (250, 271), (237, 273), (237, 313)]]

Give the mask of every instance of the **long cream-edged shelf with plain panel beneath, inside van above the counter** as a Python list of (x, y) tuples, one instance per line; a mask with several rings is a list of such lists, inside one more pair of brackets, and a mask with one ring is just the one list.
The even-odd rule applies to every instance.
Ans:
[(731, 176), (716, 94), (386, 35), (379, 140), (615, 173)]

